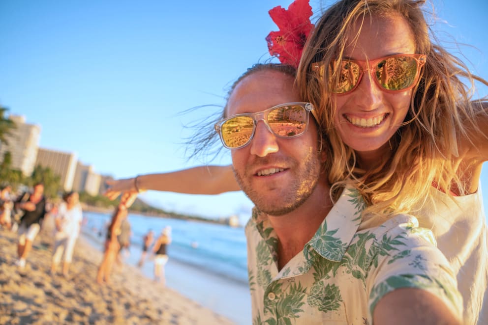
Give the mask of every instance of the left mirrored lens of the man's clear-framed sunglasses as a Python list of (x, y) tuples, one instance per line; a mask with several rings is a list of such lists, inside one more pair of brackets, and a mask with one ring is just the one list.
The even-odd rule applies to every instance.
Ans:
[(253, 128), (254, 121), (252, 117), (236, 116), (225, 121), (220, 127), (220, 132), (226, 146), (237, 148), (249, 141)]

